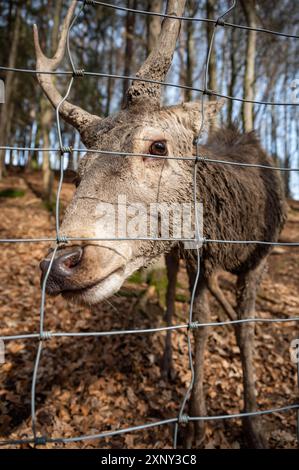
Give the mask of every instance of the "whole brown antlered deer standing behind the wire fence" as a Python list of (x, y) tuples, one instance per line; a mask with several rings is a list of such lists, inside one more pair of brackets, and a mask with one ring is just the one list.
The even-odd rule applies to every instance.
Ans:
[[(123, 108), (108, 117), (93, 115), (63, 100), (51, 74), (63, 60), (76, 4), (76, 1), (71, 2), (64, 18), (53, 58), (42, 52), (38, 29), (34, 26), (39, 85), (53, 107), (59, 106), (61, 118), (79, 131), (83, 144), (90, 149), (80, 161), (76, 190), (60, 226), (60, 235), (66, 241), (62, 239), (58, 244), (54, 257), (53, 251), (45, 254), (40, 264), (42, 281), (47, 276), (47, 293), (61, 294), (68, 301), (92, 306), (116, 293), (132, 273), (165, 255), (168, 324), (175, 311), (180, 259), (186, 263), (190, 291), (195, 289), (193, 318), (196, 322), (206, 324), (210, 320), (209, 293), (216, 297), (221, 312), (224, 310), (229, 319), (253, 318), (257, 290), (271, 245), (204, 242), (199, 249), (200, 277), (195, 286), (197, 256), (180, 240), (96, 240), (99, 233), (105, 238), (109, 232), (109, 227), (101, 226), (98, 204), (116, 204), (120, 193), (133, 204), (193, 200), (194, 161), (185, 157), (196, 156), (198, 150), (200, 155), (217, 161), (212, 164), (203, 159), (196, 168), (198, 200), (203, 202), (203, 239), (276, 242), (286, 210), (277, 172), (254, 166), (272, 166), (271, 157), (262, 149), (255, 132), (244, 134), (237, 128), (220, 127), (198, 144), (203, 124), (209, 126), (215, 122), (222, 106), (220, 100), (161, 104), (162, 84), (172, 63), (185, 0), (168, 0), (168, 17), (162, 22), (155, 47), (128, 87)], [(228, 165), (222, 163), (223, 160), (253, 166)], [(72, 238), (80, 238), (80, 241), (71, 241)], [(235, 307), (219, 287), (221, 271), (236, 276)], [(243, 372), (244, 412), (251, 413), (257, 409), (254, 325), (241, 322), (235, 330)], [(204, 354), (209, 331), (208, 326), (193, 330), (194, 386), (188, 410), (193, 417), (207, 416)], [(163, 362), (168, 373), (170, 332), (166, 336)], [(259, 416), (246, 416), (242, 423), (250, 447), (267, 446)], [(189, 421), (183, 445), (200, 447), (204, 435), (204, 421)]]

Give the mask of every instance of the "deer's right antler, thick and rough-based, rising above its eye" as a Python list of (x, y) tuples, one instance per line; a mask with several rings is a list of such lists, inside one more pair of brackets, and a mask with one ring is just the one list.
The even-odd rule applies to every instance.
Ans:
[[(182, 16), (186, 0), (168, 0), (166, 14)], [(136, 73), (138, 78), (164, 81), (170, 68), (181, 22), (165, 18), (158, 41), (146, 61)], [(152, 106), (160, 106), (161, 85), (150, 82), (133, 81), (127, 91), (127, 104), (135, 104), (144, 98), (151, 100)]]

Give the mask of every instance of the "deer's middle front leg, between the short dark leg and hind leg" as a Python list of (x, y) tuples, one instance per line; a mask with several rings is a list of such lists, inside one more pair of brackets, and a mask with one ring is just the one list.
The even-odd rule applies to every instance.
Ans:
[[(193, 320), (206, 323), (210, 320), (208, 288), (204, 280), (200, 280), (193, 306)], [(189, 404), (189, 416), (206, 416), (204, 394), (204, 355), (209, 336), (209, 328), (201, 327), (194, 330), (194, 385)], [(205, 422), (192, 421), (188, 423), (185, 437), (186, 448), (199, 448), (205, 437)]]

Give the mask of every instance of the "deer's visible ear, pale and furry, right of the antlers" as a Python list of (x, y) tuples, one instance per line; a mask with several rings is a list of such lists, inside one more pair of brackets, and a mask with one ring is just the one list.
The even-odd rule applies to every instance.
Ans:
[(217, 119), (217, 115), (221, 110), (224, 104), (224, 99), (215, 100), (215, 101), (208, 101), (203, 105), (203, 116), (202, 116), (202, 103), (200, 102), (190, 102), (190, 103), (183, 103), (181, 106), (182, 114), (184, 116), (184, 124), (188, 129), (191, 129), (195, 136), (198, 135), (201, 125), (202, 119), (204, 119), (204, 126), (203, 130), (207, 130), (209, 128), (209, 124), (211, 122), (215, 122)]

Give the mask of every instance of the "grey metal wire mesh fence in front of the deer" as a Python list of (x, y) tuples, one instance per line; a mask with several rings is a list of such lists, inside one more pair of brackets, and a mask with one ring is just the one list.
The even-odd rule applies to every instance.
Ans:
[[(81, 5), (80, 5), (81, 4)], [(220, 15), (217, 19), (212, 20), (212, 19), (207, 19), (207, 18), (191, 18), (191, 17), (177, 17), (177, 16), (172, 16), (172, 15), (167, 15), (167, 14), (162, 14), (162, 13), (153, 13), (153, 12), (148, 12), (148, 11), (143, 11), (143, 10), (134, 10), (126, 7), (121, 7), (117, 5), (112, 5), (108, 4), (105, 2), (100, 2), (100, 1), (94, 1), (94, 0), (78, 0), (78, 5), (80, 7), (78, 8), (78, 12), (74, 15), (74, 18), (71, 22), (70, 27), (68, 28), (68, 33), (67, 33), (67, 54), (68, 54), (68, 59), (71, 64), (71, 70), (70, 71), (55, 71), (55, 72), (49, 72), (46, 70), (31, 70), (31, 69), (18, 69), (18, 68), (8, 68), (8, 67), (0, 67), (0, 70), (4, 71), (14, 71), (14, 72), (19, 72), (19, 73), (32, 73), (36, 74), (37, 72), (39, 74), (55, 74), (55, 75), (67, 75), (70, 76), (70, 82), (67, 87), (67, 92), (63, 99), (60, 101), (58, 106), (56, 107), (56, 125), (57, 125), (57, 131), (58, 131), (58, 140), (59, 140), (59, 148), (27, 148), (27, 147), (10, 147), (10, 146), (1, 146), (1, 150), (27, 150), (29, 152), (35, 152), (35, 151), (55, 151), (60, 155), (60, 179), (59, 179), (59, 185), (58, 185), (58, 191), (57, 191), (57, 197), (56, 197), (56, 213), (55, 213), (55, 220), (56, 220), (56, 237), (41, 237), (41, 238), (15, 238), (15, 239), (0, 239), (1, 244), (5, 243), (48, 243), (48, 242), (55, 242), (56, 246), (53, 250), (51, 260), (48, 266), (47, 273), (44, 277), (43, 283), (42, 283), (42, 297), (41, 297), (41, 304), (40, 304), (40, 319), (39, 319), (39, 332), (34, 332), (31, 334), (20, 334), (20, 335), (8, 335), (8, 336), (1, 336), (0, 340), (3, 341), (15, 341), (15, 340), (32, 340), (36, 339), (38, 340), (38, 348), (37, 348), (37, 354), (35, 358), (35, 363), (34, 363), (34, 369), (33, 369), (33, 376), (32, 376), (32, 386), (31, 386), (31, 428), (32, 428), (32, 437), (31, 438), (26, 438), (26, 439), (7, 439), (0, 441), (1, 446), (5, 445), (19, 445), (19, 444), (34, 444), (36, 446), (38, 445), (46, 445), (47, 443), (70, 443), (70, 442), (80, 442), (80, 441), (85, 441), (85, 440), (92, 440), (92, 439), (100, 439), (100, 438), (107, 438), (107, 437), (113, 437), (125, 433), (130, 433), (130, 432), (135, 432), (135, 431), (142, 431), (146, 430), (149, 428), (153, 427), (158, 427), (158, 426), (165, 426), (165, 425), (173, 425), (174, 426), (174, 437), (173, 437), (173, 447), (177, 447), (177, 437), (178, 437), (178, 430), (180, 425), (186, 424), (189, 422), (193, 421), (212, 421), (212, 420), (227, 420), (227, 419), (237, 419), (237, 418), (244, 418), (244, 417), (250, 417), (250, 416), (261, 416), (261, 415), (267, 415), (267, 414), (272, 414), (272, 413), (280, 413), (280, 412), (287, 412), (287, 411), (294, 411), (297, 410), (297, 439), (299, 442), (299, 402), (298, 403), (292, 403), (288, 404), (283, 407), (279, 408), (273, 408), (269, 410), (259, 410), (259, 411), (254, 411), (254, 412), (243, 412), (243, 413), (236, 413), (236, 414), (223, 414), (223, 415), (216, 415), (216, 416), (188, 416), (186, 414), (186, 405), (187, 402), (190, 398), (193, 385), (194, 385), (194, 367), (193, 367), (193, 354), (192, 354), (192, 345), (191, 345), (191, 334), (192, 331), (198, 329), (198, 328), (205, 328), (205, 327), (222, 327), (222, 326), (227, 326), (227, 325), (236, 325), (236, 324), (246, 324), (246, 323), (285, 323), (285, 322), (299, 322), (299, 317), (289, 317), (289, 318), (243, 318), (243, 319), (237, 319), (237, 320), (229, 320), (229, 321), (219, 321), (219, 322), (206, 322), (206, 323), (199, 323), (197, 321), (193, 320), (193, 308), (194, 308), (194, 300), (195, 300), (195, 295), (196, 295), (196, 289), (198, 286), (199, 278), (200, 278), (200, 260), (201, 260), (201, 253), (200, 253), (200, 246), (202, 243), (228, 243), (228, 244), (256, 244), (256, 245), (272, 245), (272, 246), (289, 246), (289, 247), (298, 247), (299, 246), (299, 241), (298, 242), (289, 242), (289, 243), (282, 243), (282, 242), (273, 242), (273, 241), (266, 241), (266, 240), (213, 240), (213, 239), (207, 239), (207, 238), (202, 238), (200, 235), (200, 228), (199, 228), (199, 221), (197, 219), (198, 217), (198, 212), (197, 212), (197, 204), (198, 204), (198, 195), (197, 195), (197, 170), (199, 165), (204, 162), (205, 164), (208, 165), (214, 165), (214, 164), (225, 164), (225, 165), (234, 165), (234, 166), (239, 166), (239, 167), (254, 167), (254, 168), (261, 168), (264, 171), (285, 171), (285, 172), (293, 172), (293, 171), (299, 171), (299, 168), (283, 168), (283, 167), (275, 167), (275, 166), (268, 166), (268, 165), (259, 165), (259, 164), (250, 164), (250, 163), (243, 163), (243, 162), (231, 162), (231, 161), (225, 161), (225, 160), (214, 160), (211, 158), (207, 158), (204, 155), (201, 155), (200, 152), (200, 146), (199, 146), (199, 138), (202, 134), (203, 127), (204, 127), (204, 122), (205, 122), (205, 117), (204, 117), (204, 97), (205, 95), (213, 95), (216, 97), (223, 97), (229, 100), (236, 100), (236, 101), (241, 101), (241, 102), (249, 102), (249, 103), (254, 103), (254, 104), (263, 104), (263, 105), (277, 105), (277, 106), (298, 106), (299, 103), (296, 102), (267, 102), (267, 101), (255, 101), (255, 100), (248, 100), (245, 98), (239, 98), (239, 97), (233, 97), (233, 96), (228, 96), (224, 94), (217, 93), (213, 90), (209, 90), (208, 88), (208, 69), (209, 69), (209, 63), (210, 63), (210, 58), (211, 58), (211, 52), (212, 48), (214, 45), (214, 39), (215, 39), (215, 34), (217, 31), (217, 28), (219, 27), (231, 27), (231, 28), (239, 28), (239, 29), (244, 29), (246, 31), (257, 31), (257, 32), (263, 32), (267, 34), (272, 34), (276, 35), (279, 37), (285, 37), (285, 38), (295, 38), (299, 39), (299, 35), (295, 34), (286, 34), (282, 32), (277, 32), (277, 31), (272, 31), (269, 29), (264, 29), (264, 28), (251, 28), (249, 26), (244, 26), (244, 25), (238, 25), (238, 24), (233, 24), (224, 21), (224, 18), (236, 7), (236, 0), (233, 0), (232, 5), (222, 14)], [(113, 75), (113, 74), (106, 74), (106, 73), (95, 73), (95, 72), (87, 72), (84, 71), (83, 69), (76, 69), (74, 66), (74, 61), (71, 55), (71, 51), (69, 48), (69, 36), (70, 32), (77, 22), (80, 14), (84, 12), (85, 8), (90, 5), (92, 7), (96, 7), (97, 5), (105, 6), (107, 8), (112, 8), (116, 10), (122, 10), (125, 12), (132, 12), (134, 14), (141, 14), (141, 15), (153, 15), (153, 16), (159, 16), (161, 18), (174, 18), (174, 19), (181, 19), (182, 21), (194, 21), (194, 22), (209, 22), (214, 25), (214, 30), (213, 34), (211, 37), (211, 41), (209, 44), (209, 50), (208, 50), (208, 55), (207, 55), (207, 60), (205, 63), (205, 74), (204, 74), (204, 83), (202, 88), (196, 88), (196, 87), (189, 87), (189, 86), (184, 86), (184, 85), (177, 85), (177, 84), (172, 84), (172, 83), (165, 83), (165, 82), (160, 82), (156, 80), (150, 80), (150, 79), (144, 79), (144, 78), (138, 78), (135, 76), (125, 76), (125, 75)], [(188, 159), (190, 161), (194, 162), (194, 172), (193, 172), (193, 203), (194, 203), (194, 211), (195, 211), (195, 237), (194, 238), (180, 238), (179, 241), (193, 241), (196, 242), (196, 252), (197, 252), (197, 272), (196, 272), (196, 278), (191, 294), (191, 300), (190, 300), (190, 309), (189, 309), (189, 318), (188, 322), (179, 324), (179, 325), (173, 325), (173, 326), (165, 326), (165, 327), (159, 327), (159, 328), (148, 328), (148, 329), (132, 329), (132, 330), (111, 330), (111, 331), (99, 331), (99, 332), (50, 332), (46, 331), (44, 328), (44, 318), (45, 318), (45, 299), (46, 299), (46, 284), (47, 280), (53, 265), (53, 261), (56, 255), (56, 252), (59, 248), (59, 245), (61, 243), (68, 243), (72, 241), (84, 241), (84, 240), (89, 240), (89, 241), (100, 241), (100, 240), (150, 240), (150, 241), (165, 241), (165, 240), (174, 240), (173, 238), (76, 238), (76, 237), (65, 237), (60, 235), (60, 194), (61, 194), (61, 189), (63, 185), (63, 180), (64, 180), (64, 159), (65, 159), (65, 154), (70, 154), (73, 151), (77, 152), (84, 152), (84, 153), (105, 153), (105, 155), (110, 155), (111, 157), (122, 157), (122, 156), (130, 156), (130, 157), (140, 157), (142, 154), (134, 154), (134, 153), (122, 153), (122, 152), (102, 152), (101, 150), (98, 149), (83, 149), (83, 148), (77, 148), (73, 149), (68, 146), (63, 145), (63, 136), (61, 132), (61, 126), (60, 126), (60, 114), (59, 114), (59, 109), (63, 102), (68, 98), (69, 93), (71, 91), (71, 88), (73, 86), (74, 80), (77, 77), (86, 77), (86, 76), (95, 76), (95, 77), (107, 77), (107, 78), (115, 78), (115, 79), (121, 79), (121, 80), (140, 80), (143, 82), (150, 82), (150, 83), (156, 83), (160, 84), (163, 86), (170, 86), (170, 87), (176, 87), (176, 88), (182, 88), (182, 89), (190, 89), (193, 91), (197, 91), (201, 93), (201, 113), (202, 113), (202, 123), (201, 123), (201, 129), (198, 134), (198, 139), (197, 139), (197, 145), (196, 145), (196, 155), (192, 156), (180, 156), (180, 157), (165, 157), (161, 156), (160, 158), (163, 159)], [(146, 154), (146, 157), (149, 155)], [(155, 158), (159, 158), (159, 156), (155, 156)], [(148, 334), (148, 333), (155, 333), (155, 332), (167, 332), (171, 330), (185, 330), (187, 334), (187, 342), (188, 342), (188, 357), (189, 357), (189, 367), (190, 367), (190, 372), (191, 372), (191, 379), (189, 386), (186, 390), (186, 393), (184, 395), (184, 398), (182, 402), (180, 403), (179, 407), (179, 413), (177, 416), (171, 418), (171, 419), (165, 419), (161, 421), (156, 421), (156, 422), (150, 422), (138, 426), (132, 426), (128, 428), (123, 428), (123, 429), (117, 429), (117, 430), (112, 430), (112, 431), (107, 431), (107, 432), (102, 432), (98, 434), (92, 434), (92, 435), (82, 435), (82, 436), (76, 436), (76, 437), (71, 437), (71, 438), (65, 438), (65, 437), (60, 437), (60, 438), (51, 438), (50, 436), (42, 436), (38, 433), (37, 429), (37, 418), (36, 418), (36, 385), (37, 385), (37, 376), (38, 376), (38, 371), (39, 371), (39, 364), (40, 364), (40, 359), (41, 359), (41, 354), (43, 351), (43, 348), (45, 346), (46, 341), (50, 341), (52, 338), (61, 338), (61, 337), (77, 337), (77, 338), (82, 338), (82, 337), (103, 337), (103, 336), (113, 336), (113, 335), (132, 335), (132, 334)], [(297, 363), (297, 379), (298, 379), (298, 390), (299, 390), (299, 363)]]

